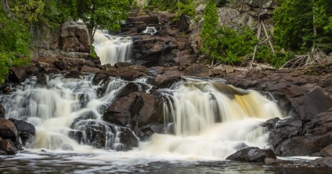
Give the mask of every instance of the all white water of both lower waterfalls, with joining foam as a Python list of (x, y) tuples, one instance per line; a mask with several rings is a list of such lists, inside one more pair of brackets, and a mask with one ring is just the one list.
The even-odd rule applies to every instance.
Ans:
[[(27, 145), (29, 151), (64, 153), (98, 153), (89, 160), (224, 160), (243, 144), (266, 146), (267, 134), (259, 124), (273, 117), (282, 117), (277, 105), (252, 90), (239, 90), (215, 81), (181, 82), (173, 89), (165, 89), (164, 118), (169, 132), (175, 135), (155, 134), (138, 148), (128, 152), (115, 152), (116, 133), (107, 131), (112, 139), (104, 150), (77, 143), (68, 137), (73, 131), (75, 118), (91, 111), (96, 116), (94, 124), (103, 122), (101, 113), (127, 82), (110, 79), (104, 84), (93, 85), (92, 76), (65, 79), (62, 75), (46, 76), (46, 85), (36, 85), (30, 79), (10, 96), (2, 97), (7, 115), (26, 119), (36, 126), (37, 135)], [(145, 81), (138, 79), (137, 81)], [(104, 95), (100, 86), (107, 86)], [(170, 95), (172, 93), (172, 95)], [(84, 96), (84, 97), (82, 97)], [(82, 99), (86, 102), (82, 102)], [(82, 104), (84, 103), (84, 104)], [(82, 124), (75, 129), (84, 128)], [(120, 132), (120, 129), (117, 129)], [(121, 144), (120, 144), (121, 146)]]

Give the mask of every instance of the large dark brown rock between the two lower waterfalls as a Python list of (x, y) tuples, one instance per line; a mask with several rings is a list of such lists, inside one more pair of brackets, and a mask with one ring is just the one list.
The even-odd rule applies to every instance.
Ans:
[[(139, 87), (140, 86), (140, 87)], [(163, 99), (145, 93), (147, 86), (129, 83), (116, 95), (116, 100), (105, 110), (102, 119), (112, 124), (129, 126), (140, 139), (163, 130)]]

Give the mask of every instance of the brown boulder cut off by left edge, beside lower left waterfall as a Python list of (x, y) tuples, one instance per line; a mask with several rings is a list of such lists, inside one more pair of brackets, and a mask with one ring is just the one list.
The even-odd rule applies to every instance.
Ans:
[(0, 118), (0, 137), (16, 142), (18, 134), (15, 124), (8, 119)]

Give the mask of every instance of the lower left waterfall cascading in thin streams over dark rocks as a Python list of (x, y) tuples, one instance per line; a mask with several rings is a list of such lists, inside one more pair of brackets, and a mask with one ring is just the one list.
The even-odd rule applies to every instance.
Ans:
[[(1, 103), (6, 108), (6, 117), (23, 119), (36, 127), (37, 133), (33, 142), (26, 145), (28, 148), (90, 151), (91, 146), (80, 144), (84, 142), (120, 150), (118, 133), (124, 128), (104, 123), (100, 117), (125, 82), (111, 79), (105, 84), (107, 93), (100, 95), (100, 85), (94, 85), (92, 79), (93, 75), (33, 77), (18, 86), (15, 93), (1, 97)], [(95, 133), (88, 133), (89, 128), (102, 129), (105, 142), (87, 139), (89, 133)], [(81, 142), (75, 136), (80, 136)]]

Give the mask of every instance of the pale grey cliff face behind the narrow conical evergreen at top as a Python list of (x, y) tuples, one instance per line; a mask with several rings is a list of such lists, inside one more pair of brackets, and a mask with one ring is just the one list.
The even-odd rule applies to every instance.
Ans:
[[(222, 7), (217, 8), (219, 26), (230, 26), (239, 28), (239, 26), (249, 26), (252, 29), (257, 28), (259, 14), (272, 14), (277, 8), (275, 0), (232, 0), (225, 3)], [(196, 7), (196, 19), (190, 21), (190, 47), (195, 53), (199, 52), (201, 47), (201, 28), (203, 27), (203, 12), (205, 4)], [(266, 19), (266, 28), (273, 30), (273, 23), (270, 19)]]

